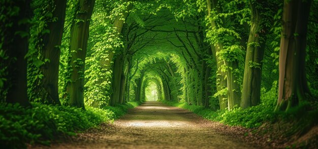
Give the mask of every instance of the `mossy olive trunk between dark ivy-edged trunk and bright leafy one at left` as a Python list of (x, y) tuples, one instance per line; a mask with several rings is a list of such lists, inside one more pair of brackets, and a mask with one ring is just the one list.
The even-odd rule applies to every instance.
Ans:
[(84, 107), (84, 71), (89, 22), (95, 0), (80, 0), (75, 21), (71, 26), (70, 53), (71, 53), (71, 81), (67, 85), (69, 94), (68, 104)]

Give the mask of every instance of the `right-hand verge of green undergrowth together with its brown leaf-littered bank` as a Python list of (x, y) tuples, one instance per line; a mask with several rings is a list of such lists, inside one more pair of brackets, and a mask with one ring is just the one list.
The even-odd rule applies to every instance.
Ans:
[[(245, 128), (259, 128), (259, 135), (271, 136), (271, 141), (278, 141), (276, 147), (308, 147), (314, 146), (311, 142), (318, 136), (310, 136), (307, 142), (299, 142), (297, 139), (309, 133), (310, 129), (318, 125), (317, 103), (302, 101), (298, 106), (288, 111), (274, 111), (276, 106), (275, 84), (273, 88), (265, 92), (262, 89), (261, 104), (248, 108), (235, 107), (231, 110), (212, 110), (203, 106), (189, 105), (186, 102), (161, 101), (171, 106), (176, 106), (192, 111), (204, 119), (217, 121), (230, 126), (242, 126)], [(281, 142), (279, 142), (281, 140)], [(267, 141), (267, 140), (266, 140)], [(281, 143), (281, 144), (279, 144)], [(309, 147), (310, 148), (310, 147)]]

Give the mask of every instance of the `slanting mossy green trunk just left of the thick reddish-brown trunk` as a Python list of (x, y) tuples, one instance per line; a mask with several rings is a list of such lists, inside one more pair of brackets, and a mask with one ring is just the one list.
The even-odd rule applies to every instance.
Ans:
[(262, 1), (251, 3), (251, 27), (247, 42), (241, 107), (255, 106), (261, 102), (262, 60), (266, 32), (261, 16)]

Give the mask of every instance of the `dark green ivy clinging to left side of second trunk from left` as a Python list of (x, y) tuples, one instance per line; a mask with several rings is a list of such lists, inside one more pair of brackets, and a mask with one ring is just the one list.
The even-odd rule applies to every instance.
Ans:
[(35, 14), (31, 19), (29, 50), (25, 57), (28, 60), (27, 81), (28, 96), (30, 101), (45, 103), (43, 99), (46, 91), (42, 88), (43, 74), (41, 66), (48, 63), (49, 60), (43, 58), (44, 39), (43, 37), (50, 33), (48, 23), (55, 22), (53, 11), (56, 9), (52, 0), (32, 1), (31, 8)]

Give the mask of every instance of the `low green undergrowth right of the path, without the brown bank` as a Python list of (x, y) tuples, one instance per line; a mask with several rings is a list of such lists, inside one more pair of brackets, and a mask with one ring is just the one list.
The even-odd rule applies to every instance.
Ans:
[(303, 101), (297, 107), (289, 111), (274, 112), (277, 100), (277, 84), (274, 83), (269, 91), (262, 89), (261, 104), (248, 108), (235, 107), (231, 110), (212, 110), (203, 106), (189, 105), (186, 102), (162, 101), (168, 105), (188, 109), (202, 116), (204, 119), (218, 121), (230, 126), (242, 126), (245, 128), (257, 128), (265, 122), (296, 121), (302, 126), (311, 127), (317, 124), (318, 109), (313, 108), (312, 103)]

